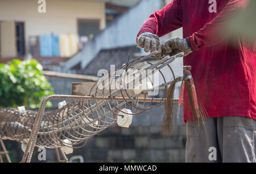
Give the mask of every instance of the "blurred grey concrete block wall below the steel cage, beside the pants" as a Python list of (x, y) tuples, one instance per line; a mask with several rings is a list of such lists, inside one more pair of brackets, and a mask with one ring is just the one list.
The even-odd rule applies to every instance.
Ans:
[(184, 162), (185, 124), (181, 117), (171, 138), (164, 138), (163, 111), (161, 106), (136, 115), (129, 128), (109, 127), (68, 157), (81, 155), (85, 162)]

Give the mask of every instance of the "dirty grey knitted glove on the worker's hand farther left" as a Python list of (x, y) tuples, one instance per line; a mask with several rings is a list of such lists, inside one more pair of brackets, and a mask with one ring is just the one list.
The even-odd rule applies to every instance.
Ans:
[(159, 51), (159, 54), (155, 55), (157, 59), (161, 59), (161, 44), (158, 35), (152, 34), (151, 32), (143, 32), (138, 37), (138, 48), (144, 48), (145, 52)]

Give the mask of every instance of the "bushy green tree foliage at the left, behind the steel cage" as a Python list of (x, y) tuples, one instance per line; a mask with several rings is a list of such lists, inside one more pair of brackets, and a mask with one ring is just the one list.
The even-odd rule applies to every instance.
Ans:
[[(53, 94), (42, 71), (42, 65), (36, 60), (14, 59), (0, 64), (0, 107), (39, 107), (44, 97)], [(51, 103), (47, 103), (51, 107)]]

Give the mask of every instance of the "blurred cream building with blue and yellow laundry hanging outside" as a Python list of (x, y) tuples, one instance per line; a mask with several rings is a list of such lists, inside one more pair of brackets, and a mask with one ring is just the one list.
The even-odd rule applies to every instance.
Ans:
[[(46, 1), (46, 13), (39, 13), (38, 1), (3, 0), (0, 6), (1, 57), (25, 56), (28, 53), (41, 57), (70, 57), (77, 50), (71, 50), (71, 53), (65, 55), (61, 53), (61, 49), (77, 49), (77, 42), (92, 39), (99, 31), (104, 30), (106, 24), (125, 13), (136, 2), (138, 1)], [(53, 45), (56, 42), (54, 38), (51, 38), (52, 41), (46, 35), (58, 36), (60, 53), (54, 50), (59, 49)], [(65, 42), (74, 42), (75, 48), (65, 48)], [(53, 47), (47, 48), (48, 44)]]

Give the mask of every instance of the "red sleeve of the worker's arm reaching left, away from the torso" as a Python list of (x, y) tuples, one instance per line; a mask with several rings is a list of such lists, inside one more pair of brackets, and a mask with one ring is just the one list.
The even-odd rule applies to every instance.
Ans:
[(150, 15), (150, 18), (143, 23), (137, 38), (143, 32), (152, 32), (160, 37), (180, 27), (182, 27), (180, 0), (173, 0), (162, 10)]

